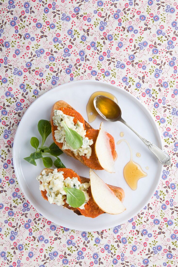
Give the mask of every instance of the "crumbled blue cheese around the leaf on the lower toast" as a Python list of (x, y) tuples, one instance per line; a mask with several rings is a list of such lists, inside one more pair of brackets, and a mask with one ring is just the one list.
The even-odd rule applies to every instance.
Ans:
[(85, 194), (85, 202), (79, 208), (85, 209), (84, 206), (89, 201), (87, 190), (90, 183), (81, 184), (77, 177), (67, 177), (64, 180), (63, 174), (63, 171), (57, 171), (57, 169), (54, 169), (53, 172), (49, 172), (49, 174), (46, 174), (46, 171), (43, 170), (41, 175), (36, 178), (38, 181), (41, 181), (39, 190), (47, 191), (46, 196), (49, 203), (55, 203), (58, 206), (61, 206), (65, 204), (64, 199), (66, 199), (66, 191), (63, 189), (64, 187), (80, 189)]

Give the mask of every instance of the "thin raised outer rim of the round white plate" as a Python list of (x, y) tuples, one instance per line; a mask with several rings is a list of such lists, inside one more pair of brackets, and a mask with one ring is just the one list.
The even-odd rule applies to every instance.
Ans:
[[(23, 121), (24, 114), (25, 114), (26, 112), (30, 112), (30, 111), (31, 111), (31, 109), (33, 108), (34, 103), (35, 103), (36, 101), (38, 101), (39, 98), (42, 98), (44, 95), (49, 94), (51, 91), (55, 91), (55, 90), (57, 90), (57, 88), (60, 89), (60, 87), (62, 87), (62, 86), (65, 87), (65, 86), (67, 86), (69, 83), (70, 83), (70, 86), (71, 86), (72, 84), (79, 84), (79, 83), (82, 84), (82, 83), (86, 83), (86, 82), (95, 83), (95, 84), (96, 84), (96, 83), (100, 83), (100, 84), (104, 84), (105, 86), (108, 85), (108, 87), (113, 87), (113, 88), (117, 89), (118, 91), (121, 91), (122, 94), (124, 94), (124, 95), (128, 96), (129, 98), (131, 98), (131, 100), (133, 100), (134, 103), (136, 103), (136, 104), (139, 103), (139, 105), (141, 105), (141, 106), (143, 107), (143, 109), (145, 110), (145, 115), (148, 114), (147, 118), (148, 118), (149, 120), (151, 120), (152, 123), (153, 123), (153, 125), (156, 127), (156, 130), (157, 130), (156, 137), (157, 137), (158, 147), (159, 147), (161, 150), (164, 151), (163, 142), (162, 142), (161, 133), (160, 133), (160, 131), (159, 131), (159, 128), (158, 128), (158, 126), (157, 126), (157, 124), (156, 124), (156, 122), (155, 122), (153, 116), (151, 115), (151, 113), (149, 113), (149, 110), (145, 107), (145, 105), (144, 105), (139, 99), (137, 99), (137, 97), (135, 97), (134, 95), (132, 95), (132, 93), (126, 91), (125, 89), (123, 89), (123, 88), (121, 88), (121, 87), (118, 87), (117, 85), (109, 84), (109, 83), (104, 82), (104, 81), (96, 81), (96, 80), (79, 80), (79, 81), (72, 81), (72, 82), (68, 82), (68, 83), (64, 83), (64, 84), (57, 85), (56, 87), (53, 87), (53, 88), (49, 89), (47, 92), (43, 93), (41, 96), (39, 96), (37, 99), (35, 99), (35, 100), (33, 101), (33, 103), (30, 104), (30, 106), (29, 106), (29, 107), (26, 109), (26, 111), (23, 113), (22, 118), (21, 118), (19, 124), (21, 124), (21, 121)], [(23, 186), (22, 186), (22, 184), (21, 184), (21, 182), (20, 182), (20, 179), (19, 179), (19, 176), (18, 176), (19, 173), (18, 173), (18, 170), (17, 170), (18, 168), (17, 168), (17, 166), (16, 166), (16, 160), (15, 160), (15, 147), (16, 147), (16, 140), (17, 140), (17, 138), (18, 138), (19, 124), (18, 124), (18, 127), (17, 127), (17, 129), (16, 129), (15, 136), (14, 136), (14, 142), (13, 142), (13, 165), (14, 165), (14, 171), (15, 171), (15, 175), (16, 175), (17, 181), (18, 181), (18, 183), (19, 183), (19, 186), (20, 186), (20, 188), (21, 188), (23, 194), (25, 195), (26, 199), (31, 203), (31, 205), (38, 211), (38, 208), (36, 208), (36, 205), (33, 204), (33, 201), (31, 201), (31, 199), (29, 200), (29, 198), (26, 196), (26, 192), (23, 190)], [(150, 194), (150, 195), (152, 195), (152, 196), (154, 195), (155, 190), (157, 189), (157, 187), (158, 187), (158, 185), (159, 185), (160, 178), (161, 178), (161, 174), (162, 174), (162, 172), (163, 172), (163, 164), (161, 164), (159, 161), (158, 161), (158, 164), (159, 164), (159, 165), (158, 165), (158, 168), (160, 168), (159, 179), (157, 180), (157, 183), (156, 183), (155, 186), (153, 187), (154, 190), (151, 191), (151, 194)], [(158, 170), (159, 170), (159, 169), (158, 169)], [(151, 198), (152, 198), (152, 197), (151, 197)], [(149, 200), (150, 200), (151, 198), (150, 198), (150, 197), (149, 197), (149, 198), (147, 197), (145, 201), (149, 202)], [(141, 207), (140, 211), (141, 211), (144, 207), (145, 207), (145, 205), (143, 205), (143, 206)], [(48, 220), (50, 220), (50, 221), (52, 220), (50, 217), (48, 217), (48, 215), (46, 215), (46, 214), (44, 215), (44, 213), (41, 213), (40, 211), (38, 211), (38, 212), (39, 212), (43, 217), (45, 217), (46, 219), (48, 219)], [(139, 211), (137, 211), (136, 214), (138, 214), (138, 213), (139, 213)], [(136, 214), (134, 214), (133, 216), (135, 216)], [(125, 221), (124, 219), (122, 219), (122, 220), (120, 221), (120, 225), (121, 225), (122, 223), (126, 223), (126, 222), (127, 222), (127, 221)], [(58, 222), (56, 222), (56, 220), (54, 220), (53, 223), (56, 223), (56, 225), (61, 226)], [(70, 225), (70, 226), (69, 226), (69, 225), (70, 225), (70, 223), (66, 222), (66, 226), (62, 226), (62, 227), (66, 227), (66, 228), (69, 228), (69, 229), (73, 229), (73, 228), (70, 228), (71, 225)], [(115, 227), (115, 226), (117, 226), (117, 225), (115, 225), (115, 224), (114, 224), (114, 225), (111, 225), (111, 226), (109, 226), (109, 227), (106, 228), (106, 229), (113, 228), (113, 227)], [(86, 230), (85, 227), (82, 227), (82, 228), (81, 228), (81, 227), (79, 227), (79, 228), (78, 228), (78, 227), (74, 227), (73, 230), (78, 230), (78, 231), (97, 231), (97, 230), (103, 230), (103, 227), (98, 227), (97, 229), (94, 229), (94, 230), (93, 230), (93, 228), (89, 228), (89, 227), (87, 227), (87, 230)]]

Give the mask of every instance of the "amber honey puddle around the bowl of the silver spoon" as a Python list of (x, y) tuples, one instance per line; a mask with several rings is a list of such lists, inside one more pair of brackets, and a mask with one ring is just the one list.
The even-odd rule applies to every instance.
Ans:
[[(94, 98), (96, 96), (98, 96), (98, 95), (107, 96), (110, 99), (114, 100), (116, 103), (118, 103), (116, 97), (114, 95), (108, 93), (108, 92), (103, 92), (103, 91), (94, 92), (90, 96), (90, 99), (88, 100), (88, 103), (86, 105), (86, 112), (87, 112), (87, 115), (88, 115), (88, 121), (89, 122), (94, 121), (96, 119), (96, 116), (98, 115), (96, 109), (94, 108), (94, 104), (93, 104)], [(101, 103), (101, 105), (102, 105), (102, 103)], [(107, 113), (106, 106), (103, 106), (102, 108), (105, 109), (103, 114)]]

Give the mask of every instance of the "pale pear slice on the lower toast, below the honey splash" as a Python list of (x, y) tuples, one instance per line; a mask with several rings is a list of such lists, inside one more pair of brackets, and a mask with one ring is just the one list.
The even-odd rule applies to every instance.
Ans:
[(90, 169), (90, 186), (94, 202), (105, 213), (120, 214), (126, 208), (98, 175)]

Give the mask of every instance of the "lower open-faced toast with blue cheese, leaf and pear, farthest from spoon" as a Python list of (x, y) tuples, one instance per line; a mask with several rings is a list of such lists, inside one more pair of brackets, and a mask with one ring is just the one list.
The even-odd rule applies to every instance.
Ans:
[(125, 210), (124, 190), (105, 184), (92, 170), (88, 179), (68, 168), (46, 168), (37, 180), (44, 199), (73, 210), (77, 215), (95, 218), (103, 213), (119, 214)]

